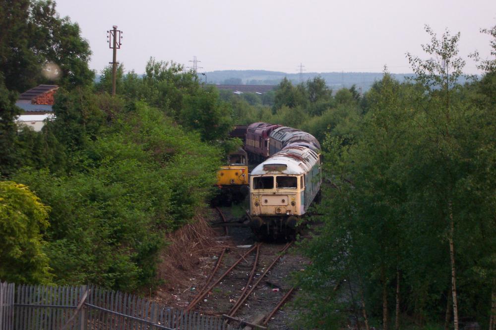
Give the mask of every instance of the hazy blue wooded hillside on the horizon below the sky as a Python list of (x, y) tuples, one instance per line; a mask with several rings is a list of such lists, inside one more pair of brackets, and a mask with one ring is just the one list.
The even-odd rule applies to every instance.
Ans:
[[(412, 74), (391, 74), (398, 81)], [(266, 70), (222, 70), (206, 72), (208, 83), (226, 85), (277, 85), (284, 78), (288, 78), (294, 84), (300, 83), (299, 73), (286, 73)], [(313, 77), (320, 76), (325, 79), (327, 85), (336, 90), (342, 87), (349, 88), (356, 85), (363, 91), (368, 90), (374, 81), (382, 79), (382, 72), (305, 72), (303, 80), (307, 81)], [(203, 78), (203, 76), (200, 76)]]

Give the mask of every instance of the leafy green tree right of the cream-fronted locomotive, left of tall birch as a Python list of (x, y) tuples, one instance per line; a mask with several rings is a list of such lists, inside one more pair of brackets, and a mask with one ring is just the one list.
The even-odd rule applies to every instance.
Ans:
[[(361, 135), (350, 139), (328, 133), (323, 143), (330, 187), (318, 208), (325, 224), (309, 243), (307, 252), (315, 263), (300, 280), (310, 297), (321, 290), (329, 295), (311, 318), (315, 322), (330, 314), (321, 326), (325, 329), (344, 326), (348, 313), (341, 311), (350, 309), (367, 328), (373, 316), (382, 314), (382, 328), (388, 329), (390, 287), (402, 271), (405, 187), (395, 170), (409, 130), (403, 121), (408, 112), (399, 83), (385, 74), (382, 86), (370, 113), (357, 122)], [(312, 289), (315, 279), (319, 285)], [(350, 299), (343, 301), (343, 295)]]

